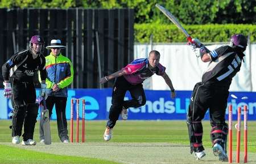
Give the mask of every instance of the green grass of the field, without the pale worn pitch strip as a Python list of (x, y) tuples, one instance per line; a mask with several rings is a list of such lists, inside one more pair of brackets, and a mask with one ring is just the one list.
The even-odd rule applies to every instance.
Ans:
[[(85, 145), (82, 145), (81, 143), (80, 144), (60, 143), (59, 137), (57, 136), (56, 121), (52, 121), (51, 122), (52, 142), (56, 144), (59, 143), (54, 148), (59, 148), (60, 145), (62, 145), (64, 150), (65, 148), (69, 150), (71, 146), (85, 146), (85, 147), (80, 147), (85, 149), (89, 148), (89, 146), (92, 146), (90, 147), (92, 149), (93, 148), (97, 149), (97, 148), (101, 148), (101, 146), (104, 146), (104, 149), (108, 149), (108, 145), (109, 145), (109, 146), (112, 146), (112, 149), (116, 148), (118, 149), (118, 151), (119, 149), (123, 148), (123, 146), (126, 146), (126, 149), (133, 148), (132, 151), (133, 150), (135, 151), (137, 147), (140, 149), (141, 148), (148, 149), (150, 146), (148, 145), (141, 146), (140, 144), (151, 143), (149, 145), (158, 144), (156, 145), (156, 147), (159, 149), (164, 149), (165, 147), (170, 146), (170, 144), (174, 144), (177, 147), (175, 149), (179, 150), (179, 146), (181, 146), (183, 149), (185, 149), (186, 153), (189, 152), (187, 124), (185, 123), (185, 121), (130, 121), (130, 120), (123, 121), (121, 120), (117, 122), (114, 128), (113, 139), (108, 142), (104, 141), (102, 137), (105, 130), (105, 123), (106, 123), (105, 121), (86, 121), (85, 122), (86, 143)], [(36, 146), (20, 146), (20, 145), (16, 146), (16, 145), (10, 144), (11, 143), (11, 130), (9, 129), (10, 124), (11, 124), (11, 120), (0, 120), (0, 132), (1, 132), (0, 133), (0, 152), (1, 152), (0, 161), (1, 163), (114, 163), (112, 158), (110, 159), (108, 157), (105, 157), (105, 158), (100, 157), (98, 159), (95, 159), (94, 156), (88, 156), (93, 158), (88, 158), (84, 156), (81, 157), (79, 155), (79, 148), (77, 149), (78, 150), (77, 153), (71, 153), (71, 156), (67, 156), (68, 154), (67, 152), (52, 153), (52, 151), (46, 150), (48, 145), (42, 145), (40, 143), (38, 143), (38, 145)], [(38, 125), (39, 123), (36, 123), (34, 139), (39, 142)], [(75, 126), (74, 126), (74, 130), (75, 130)], [(255, 126), (256, 126), (256, 122), (248, 122), (248, 129), (249, 129), (248, 152), (251, 152), (253, 154), (256, 153)], [(203, 122), (203, 127), (204, 127), (203, 144), (205, 148), (211, 148), (212, 144), (210, 142), (210, 137), (209, 137), (209, 133), (210, 133), (209, 121)], [(81, 128), (81, 122), (80, 122), (80, 128)], [(68, 123), (68, 130), (69, 130), (69, 123)], [(76, 134), (75, 131), (74, 131), (74, 134)], [(74, 141), (75, 139), (76, 139), (76, 135), (74, 135)], [(81, 133), (80, 133), (80, 141), (81, 141)], [(243, 151), (242, 141), (243, 141), (243, 129), (241, 130), (241, 153)], [(133, 145), (129, 145), (129, 143)], [(159, 143), (163, 143), (163, 144), (166, 143), (168, 145), (163, 145)], [(37, 146), (38, 148), (41, 146), (40, 149), (35, 149), (37, 148)], [(69, 146), (69, 147), (64, 147), (64, 146)], [(233, 130), (233, 150), (235, 150), (235, 148), (236, 148), (236, 130)], [(20, 149), (26, 149), (26, 150), (20, 151)], [(47, 154), (46, 152), (49, 152), (51, 154)], [(89, 153), (90, 152), (87, 152), (87, 154)], [(99, 153), (100, 153), (100, 150), (99, 150)], [(59, 154), (65, 154), (65, 155), (63, 156)], [(97, 154), (97, 150), (96, 150), (96, 154)], [(154, 153), (151, 156), (153, 155)], [(47, 158), (48, 161), (45, 161), (46, 157), (49, 157)], [(11, 162), (10, 162), (10, 159), (12, 160)], [(105, 161), (105, 159), (112, 162)], [(127, 163), (125, 160), (124, 161), (119, 160), (115, 162)], [(169, 162), (170, 161), (167, 161), (167, 163)], [(253, 162), (256, 162), (256, 161), (253, 161)], [(142, 163), (144, 162), (142, 161)], [(150, 161), (146, 163), (150, 163)]]

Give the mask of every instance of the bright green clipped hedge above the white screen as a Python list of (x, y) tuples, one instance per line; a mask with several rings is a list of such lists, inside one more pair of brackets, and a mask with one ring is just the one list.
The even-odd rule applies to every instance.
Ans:
[[(248, 36), (250, 41), (256, 41), (256, 25), (251, 24), (207, 24), (184, 25), (192, 37), (199, 38), (201, 42), (227, 42), (234, 33)], [(174, 24), (135, 24), (135, 42), (147, 43), (150, 35), (154, 42), (186, 42), (184, 34)]]

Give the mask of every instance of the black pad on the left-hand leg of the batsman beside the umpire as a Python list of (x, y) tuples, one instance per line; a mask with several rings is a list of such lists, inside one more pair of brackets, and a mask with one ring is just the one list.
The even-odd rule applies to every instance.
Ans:
[(26, 105), (15, 105), (12, 118), (13, 136), (21, 136)]

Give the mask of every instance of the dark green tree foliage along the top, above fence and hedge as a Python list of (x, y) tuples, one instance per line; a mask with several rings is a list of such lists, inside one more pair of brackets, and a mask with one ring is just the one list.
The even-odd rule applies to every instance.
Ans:
[(252, 0), (1, 0), (2, 8), (134, 8), (134, 23), (170, 21), (156, 7), (159, 3), (184, 24), (255, 24)]

